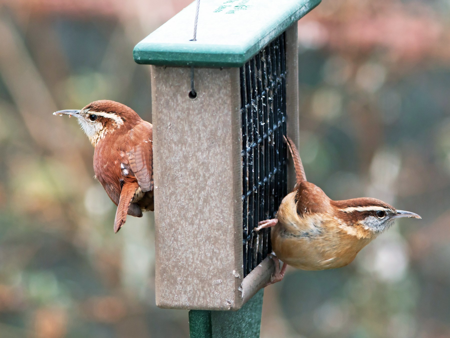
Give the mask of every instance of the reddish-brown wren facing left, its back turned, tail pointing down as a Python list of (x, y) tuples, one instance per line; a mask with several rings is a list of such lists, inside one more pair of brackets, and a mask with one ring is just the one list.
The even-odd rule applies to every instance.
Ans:
[(126, 215), (153, 211), (153, 126), (121, 103), (99, 100), (81, 110), (59, 110), (75, 116), (94, 146), (94, 173), (117, 206), (114, 232)]

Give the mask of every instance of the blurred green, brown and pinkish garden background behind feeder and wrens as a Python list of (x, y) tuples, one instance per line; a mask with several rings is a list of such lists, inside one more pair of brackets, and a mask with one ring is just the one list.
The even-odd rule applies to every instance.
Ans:
[[(154, 305), (153, 214), (114, 235), (92, 146), (51, 114), (110, 99), (151, 121), (132, 50), (188, 3), (0, 3), (1, 338), (188, 337), (186, 311)], [(288, 270), (261, 337), (450, 337), (450, 1), (323, 0), (298, 30), (308, 179), (423, 219), (345, 268)]]

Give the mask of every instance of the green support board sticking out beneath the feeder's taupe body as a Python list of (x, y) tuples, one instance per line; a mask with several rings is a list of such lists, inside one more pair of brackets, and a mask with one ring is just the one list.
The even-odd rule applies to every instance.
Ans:
[(190, 338), (258, 338), (264, 289), (238, 311), (189, 311)]

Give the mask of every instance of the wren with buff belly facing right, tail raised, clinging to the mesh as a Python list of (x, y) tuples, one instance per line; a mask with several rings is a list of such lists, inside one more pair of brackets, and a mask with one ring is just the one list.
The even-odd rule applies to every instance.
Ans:
[[(320, 187), (306, 181), (297, 147), (289, 137), (285, 141), (293, 157), (297, 183), (293, 192), (284, 197), (276, 218), (259, 222), (255, 228), (259, 231), (273, 227), (275, 274), (268, 284), (283, 279), (287, 265), (302, 270), (345, 266), (395, 219), (421, 218), (375, 198), (331, 200)], [(279, 260), (284, 263), (281, 270)]]

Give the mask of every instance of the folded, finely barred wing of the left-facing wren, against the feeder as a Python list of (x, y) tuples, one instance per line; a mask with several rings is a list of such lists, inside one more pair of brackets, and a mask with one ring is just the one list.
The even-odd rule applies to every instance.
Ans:
[(143, 192), (153, 190), (153, 130), (148, 122), (139, 123), (130, 133), (136, 142), (135, 146), (127, 151), (130, 168), (135, 174)]

